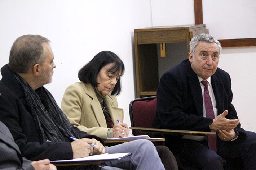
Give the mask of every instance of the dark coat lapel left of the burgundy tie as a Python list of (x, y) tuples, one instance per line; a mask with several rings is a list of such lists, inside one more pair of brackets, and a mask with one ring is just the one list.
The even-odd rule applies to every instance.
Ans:
[(186, 63), (187, 78), (189, 79), (190, 91), (193, 97), (198, 116), (203, 116), (203, 95), (197, 74), (192, 70), (190, 61)]

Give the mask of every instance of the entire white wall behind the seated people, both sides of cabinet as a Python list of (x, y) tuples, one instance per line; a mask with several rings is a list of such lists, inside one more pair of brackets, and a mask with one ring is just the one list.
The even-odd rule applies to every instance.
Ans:
[[(203, 20), (219, 39), (256, 37), (255, 9), (254, 0), (203, 0)], [(234, 31), (227, 29), (227, 21)], [(180, 24), (194, 24), (193, 0), (0, 0), (0, 67), (8, 62), (18, 36), (49, 38), (57, 68), (47, 88), (60, 104), (66, 87), (78, 81), (79, 68), (98, 52), (113, 51), (125, 64), (118, 102), (130, 124), (128, 104), (135, 97), (133, 29)], [(254, 132), (255, 61), (256, 47), (239, 47), (223, 49), (219, 63), (232, 78), (233, 104), (242, 126)]]

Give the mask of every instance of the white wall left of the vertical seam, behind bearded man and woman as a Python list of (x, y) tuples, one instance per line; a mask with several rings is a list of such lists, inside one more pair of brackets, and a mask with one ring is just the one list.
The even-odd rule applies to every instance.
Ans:
[(78, 70), (98, 52), (113, 51), (125, 65), (118, 103), (130, 124), (128, 105), (135, 97), (133, 29), (151, 26), (150, 6), (149, 0), (1, 0), (0, 67), (8, 63), (17, 37), (47, 37), (57, 67), (46, 88), (60, 105), (67, 86), (78, 81)]

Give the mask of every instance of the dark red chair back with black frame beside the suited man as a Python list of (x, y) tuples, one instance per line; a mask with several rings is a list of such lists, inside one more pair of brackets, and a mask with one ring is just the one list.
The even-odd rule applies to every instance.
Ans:
[[(129, 104), (131, 126), (151, 128), (156, 114), (156, 96), (136, 98)], [(132, 130), (133, 135), (144, 135)]]

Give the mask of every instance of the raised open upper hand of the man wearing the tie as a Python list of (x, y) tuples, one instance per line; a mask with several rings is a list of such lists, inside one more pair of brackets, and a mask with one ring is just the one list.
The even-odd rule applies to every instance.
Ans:
[(210, 125), (211, 130), (226, 130), (230, 131), (237, 127), (239, 124), (239, 119), (226, 119), (225, 116), (228, 115), (228, 110), (225, 110), (222, 114), (218, 115), (213, 119), (212, 124)]

